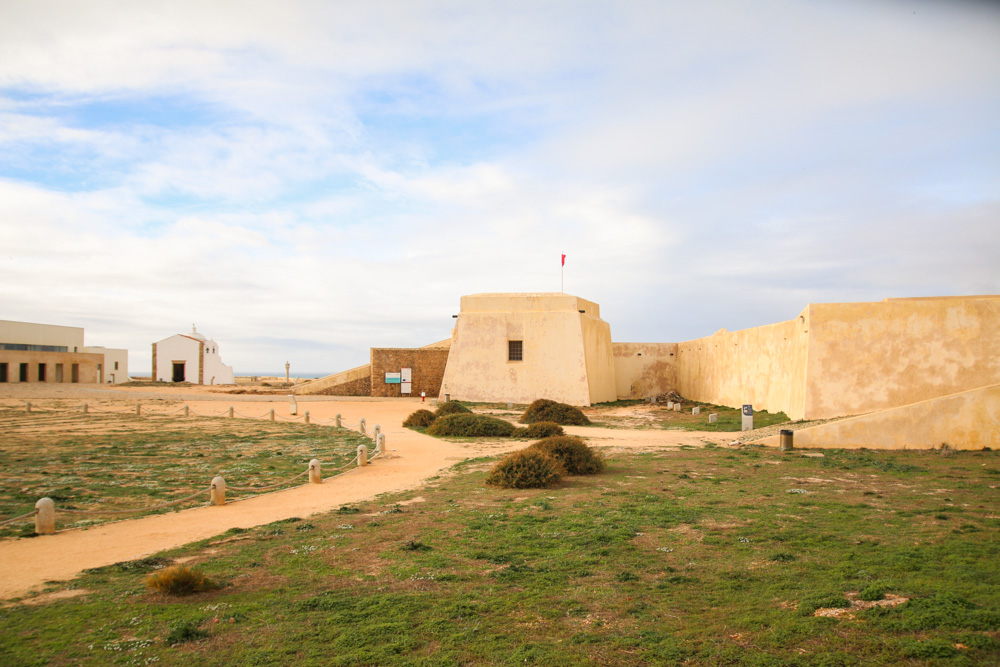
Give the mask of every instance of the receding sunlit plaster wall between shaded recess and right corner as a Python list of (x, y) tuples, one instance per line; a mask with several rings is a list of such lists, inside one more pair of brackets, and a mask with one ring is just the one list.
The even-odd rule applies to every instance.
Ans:
[[(677, 391), (685, 398), (805, 414), (808, 308), (798, 318), (719, 332), (677, 345)], [(810, 369), (811, 371), (811, 369)]]

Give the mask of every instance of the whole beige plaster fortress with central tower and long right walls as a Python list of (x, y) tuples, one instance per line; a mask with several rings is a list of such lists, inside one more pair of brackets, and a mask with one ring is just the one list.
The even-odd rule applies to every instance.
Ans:
[[(887, 446), (1000, 445), (1000, 296), (809, 304), (785, 322), (680, 343), (613, 342), (598, 304), (562, 293), (464, 296), (456, 317), (447, 340), (372, 348), (369, 364), (295, 392), (590, 405), (674, 391), (793, 420), (897, 411), (905, 433)], [(390, 378), (401, 371), (408, 383)], [(907, 406), (938, 425), (901, 428), (916, 423), (898, 412)], [(871, 431), (838, 437), (874, 445)]]

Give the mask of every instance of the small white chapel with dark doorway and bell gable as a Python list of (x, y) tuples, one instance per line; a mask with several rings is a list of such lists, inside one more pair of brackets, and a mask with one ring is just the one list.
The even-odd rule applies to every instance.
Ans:
[(153, 343), (153, 379), (191, 384), (235, 384), (233, 367), (222, 363), (219, 344), (191, 325), (191, 333)]

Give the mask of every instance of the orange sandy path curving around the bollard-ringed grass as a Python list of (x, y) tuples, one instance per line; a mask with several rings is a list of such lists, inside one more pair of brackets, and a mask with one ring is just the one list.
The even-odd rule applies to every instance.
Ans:
[[(305, 399), (305, 400), (303, 400)], [(263, 417), (272, 408), (277, 418), (288, 418), (289, 401), (275, 396), (226, 396), (203, 387), (113, 388), (99, 385), (7, 385), (0, 388), (0, 405), (23, 405), (25, 400), (63, 404), (83, 401), (133, 405), (147, 403), (149, 411), (187, 403), (198, 413), (222, 412), (229, 406), (247, 417)], [(224, 402), (224, 404), (223, 404)], [(298, 397), (300, 415), (314, 421), (341, 414), (345, 425), (364, 417), (369, 431), (375, 424), (386, 436), (387, 456), (365, 468), (355, 468), (323, 484), (305, 484), (224, 506), (206, 506), (135, 520), (66, 530), (55, 535), (0, 541), (0, 599), (20, 597), (50, 581), (71, 579), (81, 571), (134, 560), (163, 549), (218, 535), (230, 528), (249, 528), (290, 517), (306, 517), (357, 503), (383, 493), (416, 489), (424, 481), (468, 457), (519, 449), (524, 442), (453, 443), (403, 428), (402, 422), (420, 399)], [(725, 442), (725, 434), (662, 430), (625, 430), (568, 427), (597, 447), (664, 449)]]

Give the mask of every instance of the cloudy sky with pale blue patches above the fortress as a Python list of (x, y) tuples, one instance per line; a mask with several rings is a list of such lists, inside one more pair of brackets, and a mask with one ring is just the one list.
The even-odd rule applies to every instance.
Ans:
[(294, 376), (560, 290), (621, 342), (1000, 293), (1000, 3), (0, 0), (0, 319)]

